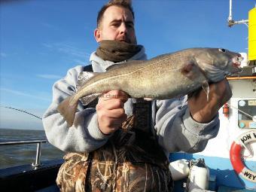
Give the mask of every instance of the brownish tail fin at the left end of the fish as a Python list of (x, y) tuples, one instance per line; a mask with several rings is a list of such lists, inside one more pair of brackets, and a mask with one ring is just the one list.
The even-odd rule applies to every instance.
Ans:
[(77, 102), (72, 101), (73, 97), (74, 96), (69, 96), (68, 98), (64, 99), (58, 105), (58, 108), (57, 108), (59, 113), (62, 114), (62, 116), (65, 118), (69, 127), (72, 126), (74, 123), (75, 112), (77, 111), (77, 108), (78, 108), (78, 101)]

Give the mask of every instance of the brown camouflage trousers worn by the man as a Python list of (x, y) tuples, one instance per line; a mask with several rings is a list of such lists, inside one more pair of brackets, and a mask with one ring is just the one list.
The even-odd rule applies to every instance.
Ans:
[(66, 163), (62, 164), (56, 179), (60, 191), (172, 191), (168, 171), (159, 166), (91, 161), (87, 157), (86, 154), (66, 154)]

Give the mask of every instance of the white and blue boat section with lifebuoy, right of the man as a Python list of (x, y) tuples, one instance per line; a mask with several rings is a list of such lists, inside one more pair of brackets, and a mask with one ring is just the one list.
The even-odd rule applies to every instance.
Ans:
[[(227, 77), (233, 96), (219, 111), (218, 136), (200, 153), (170, 154), (177, 178), (188, 176), (175, 181), (175, 191), (256, 191), (256, 8), (248, 11), (248, 20), (234, 21), (230, 0), (228, 26), (236, 24), (248, 26), (248, 55), (241, 53), (242, 73)], [(204, 160), (204, 165), (191, 170), (190, 162), (197, 160)]]

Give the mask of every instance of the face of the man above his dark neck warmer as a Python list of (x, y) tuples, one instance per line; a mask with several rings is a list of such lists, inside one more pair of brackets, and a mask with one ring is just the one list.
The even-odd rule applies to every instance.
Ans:
[(99, 29), (94, 32), (96, 41), (117, 40), (137, 44), (133, 14), (125, 8), (111, 6), (106, 9)]

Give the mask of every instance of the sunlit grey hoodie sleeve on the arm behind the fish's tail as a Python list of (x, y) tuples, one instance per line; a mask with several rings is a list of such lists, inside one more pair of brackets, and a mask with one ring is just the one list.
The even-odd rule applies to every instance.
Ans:
[(95, 108), (84, 109), (84, 106), (79, 103), (78, 112), (71, 127), (57, 111), (62, 100), (75, 94), (78, 75), (82, 70), (82, 66), (70, 69), (65, 78), (56, 81), (53, 85), (53, 102), (43, 115), (48, 141), (62, 151), (90, 152), (104, 145), (109, 137), (99, 130)]

